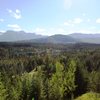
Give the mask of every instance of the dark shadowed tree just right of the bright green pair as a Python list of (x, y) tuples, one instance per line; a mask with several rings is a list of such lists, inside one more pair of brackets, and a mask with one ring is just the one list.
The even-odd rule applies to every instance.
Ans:
[(87, 92), (88, 77), (89, 73), (85, 68), (84, 63), (77, 59), (77, 68), (75, 72), (75, 96), (79, 96)]

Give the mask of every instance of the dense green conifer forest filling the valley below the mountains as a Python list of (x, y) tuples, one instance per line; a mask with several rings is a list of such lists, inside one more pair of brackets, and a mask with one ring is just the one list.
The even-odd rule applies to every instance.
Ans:
[(0, 100), (74, 100), (87, 92), (100, 99), (100, 45), (0, 44)]

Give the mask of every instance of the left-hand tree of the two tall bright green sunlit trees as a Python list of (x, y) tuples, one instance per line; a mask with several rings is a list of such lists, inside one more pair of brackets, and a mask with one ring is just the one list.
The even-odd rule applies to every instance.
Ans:
[(50, 100), (63, 98), (63, 66), (59, 62), (56, 62), (56, 73), (51, 77), (49, 88)]

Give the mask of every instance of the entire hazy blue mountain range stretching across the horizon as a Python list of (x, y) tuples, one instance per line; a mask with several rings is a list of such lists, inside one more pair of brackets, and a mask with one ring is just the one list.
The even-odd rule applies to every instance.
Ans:
[(43, 36), (24, 31), (0, 32), (0, 42), (31, 42), (31, 43), (96, 43), (100, 44), (100, 34), (72, 33), (69, 35)]

